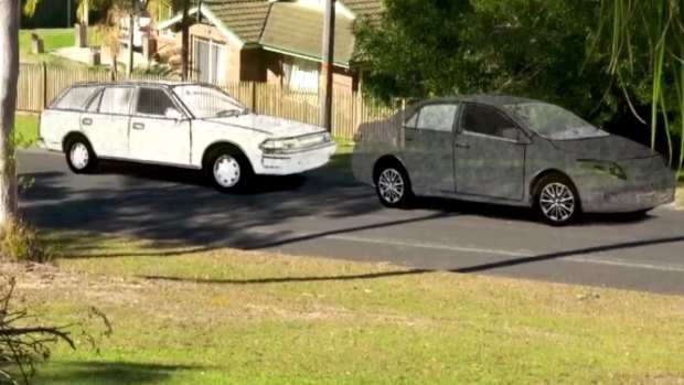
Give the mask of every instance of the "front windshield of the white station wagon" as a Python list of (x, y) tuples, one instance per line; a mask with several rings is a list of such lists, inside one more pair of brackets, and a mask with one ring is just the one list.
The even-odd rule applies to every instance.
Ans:
[(197, 119), (239, 116), (247, 108), (228, 94), (203, 85), (174, 86), (173, 89)]

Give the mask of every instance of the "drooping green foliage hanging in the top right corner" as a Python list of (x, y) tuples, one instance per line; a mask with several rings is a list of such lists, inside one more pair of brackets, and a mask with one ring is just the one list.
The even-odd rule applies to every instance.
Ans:
[[(651, 147), (655, 146), (658, 118), (678, 136), (677, 173), (684, 162), (684, 0), (601, 0), (600, 25), (611, 33), (597, 38), (608, 47), (609, 71), (627, 94), (651, 107)], [(644, 76), (645, 75), (645, 76)], [(640, 77), (641, 82), (634, 82)]]

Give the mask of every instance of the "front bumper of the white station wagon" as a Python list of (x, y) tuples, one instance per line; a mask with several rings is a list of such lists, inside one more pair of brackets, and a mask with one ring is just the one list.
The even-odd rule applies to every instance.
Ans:
[(289, 153), (264, 153), (261, 172), (266, 175), (289, 175), (325, 165), (335, 153), (338, 145), (328, 142), (316, 148)]

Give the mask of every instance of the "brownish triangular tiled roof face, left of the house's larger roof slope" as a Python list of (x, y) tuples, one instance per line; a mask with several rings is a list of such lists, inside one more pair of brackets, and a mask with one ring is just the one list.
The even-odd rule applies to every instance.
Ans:
[(228, 0), (202, 7), (209, 7), (225, 28), (249, 44), (258, 42), (270, 3), (267, 0)]

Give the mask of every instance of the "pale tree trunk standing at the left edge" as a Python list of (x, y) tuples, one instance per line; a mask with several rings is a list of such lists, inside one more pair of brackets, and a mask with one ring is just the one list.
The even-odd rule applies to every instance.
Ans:
[(14, 108), (19, 77), (19, 1), (0, 1), (0, 226), (17, 218)]

